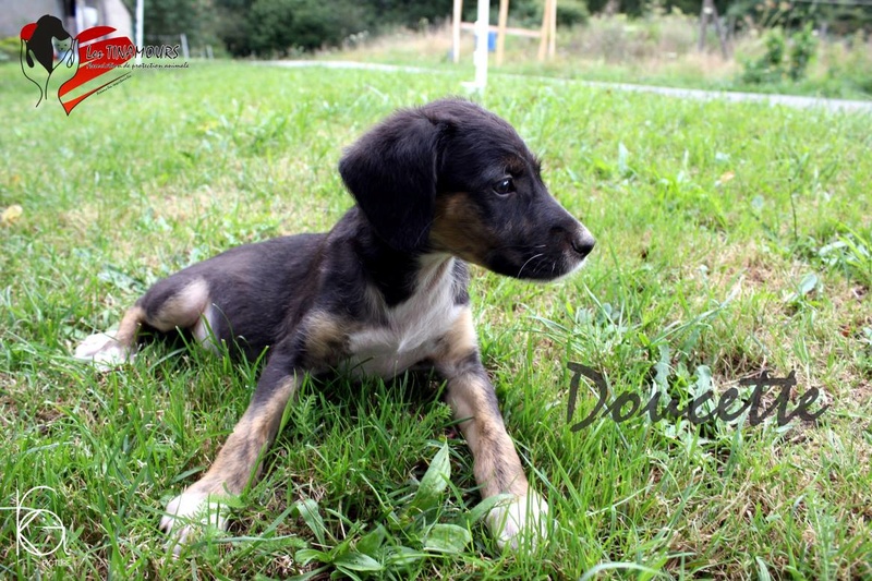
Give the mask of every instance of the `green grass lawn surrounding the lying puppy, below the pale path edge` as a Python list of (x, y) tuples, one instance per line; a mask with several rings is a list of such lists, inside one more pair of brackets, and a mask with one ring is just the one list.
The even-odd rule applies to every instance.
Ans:
[[(70, 356), (180, 267), (329, 228), (351, 205), (342, 147), (463, 80), (196, 62), (138, 71), (66, 118), (33, 109), (21, 71), (0, 66), (0, 210), (23, 208), (0, 227), (0, 506), (50, 486), (23, 504), (65, 529), (33, 556), (1, 510), (0, 577), (286, 578), (318, 566), (301, 549), (330, 562), (379, 525), (417, 550), (391, 515), (446, 441), (452, 484), (432, 518), (463, 522), (480, 499), (438, 386), (337, 382), (304, 387), (229, 533), (169, 558), (162, 507), (208, 467), (256, 370), (162, 343), (109, 374)], [(871, 577), (869, 117), (496, 76), (483, 102), (598, 240), (561, 283), (472, 282), (485, 365), (556, 530), (511, 555), (473, 523), (460, 554), (373, 577)], [(573, 432), (596, 398), (582, 383), (567, 419), (568, 362), (603, 373), (611, 398), (653, 385), (682, 401), (796, 371), (797, 391), (831, 407), (785, 427), (600, 417)], [(323, 530), (294, 512), (305, 499)], [(24, 533), (50, 547), (38, 516)]]

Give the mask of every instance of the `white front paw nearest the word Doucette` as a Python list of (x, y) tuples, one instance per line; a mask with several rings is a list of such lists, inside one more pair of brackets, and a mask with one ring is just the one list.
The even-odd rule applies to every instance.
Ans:
[(485, 522), (497, 541), (500, 550), (518, 549), (520, 545), (535, 547), (548, 536), (548, 504), (538, 494), (530, 492), (525, 497), (497, 505), (487, 515)]

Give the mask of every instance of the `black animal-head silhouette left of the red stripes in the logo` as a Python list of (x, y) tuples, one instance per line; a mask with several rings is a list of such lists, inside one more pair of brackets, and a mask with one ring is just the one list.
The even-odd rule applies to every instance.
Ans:
[(21, 29), (21, 70), (39, 87), (39, 107), (78, 71), (78, 40), (63, 28), (60, 19), (46, 14)]

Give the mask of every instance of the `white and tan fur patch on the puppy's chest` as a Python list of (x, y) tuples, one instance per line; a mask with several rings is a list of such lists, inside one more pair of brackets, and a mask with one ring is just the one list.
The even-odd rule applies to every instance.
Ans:
[(452, 270), (453, 259), (425, 266), (415, 293), (385, 308), (384, 325), (351, 334), (352, 375), (388, 379), (434, 353), (438, 339), (462, 312), (455, 305)]

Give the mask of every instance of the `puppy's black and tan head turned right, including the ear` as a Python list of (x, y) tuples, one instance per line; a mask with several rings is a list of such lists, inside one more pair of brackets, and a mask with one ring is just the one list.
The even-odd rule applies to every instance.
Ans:
[(376, 234), (401, 252), (549, 280), (594, 245), (514, 129), (469, 101), (398, 111), (348, 149), (339, 172)]

